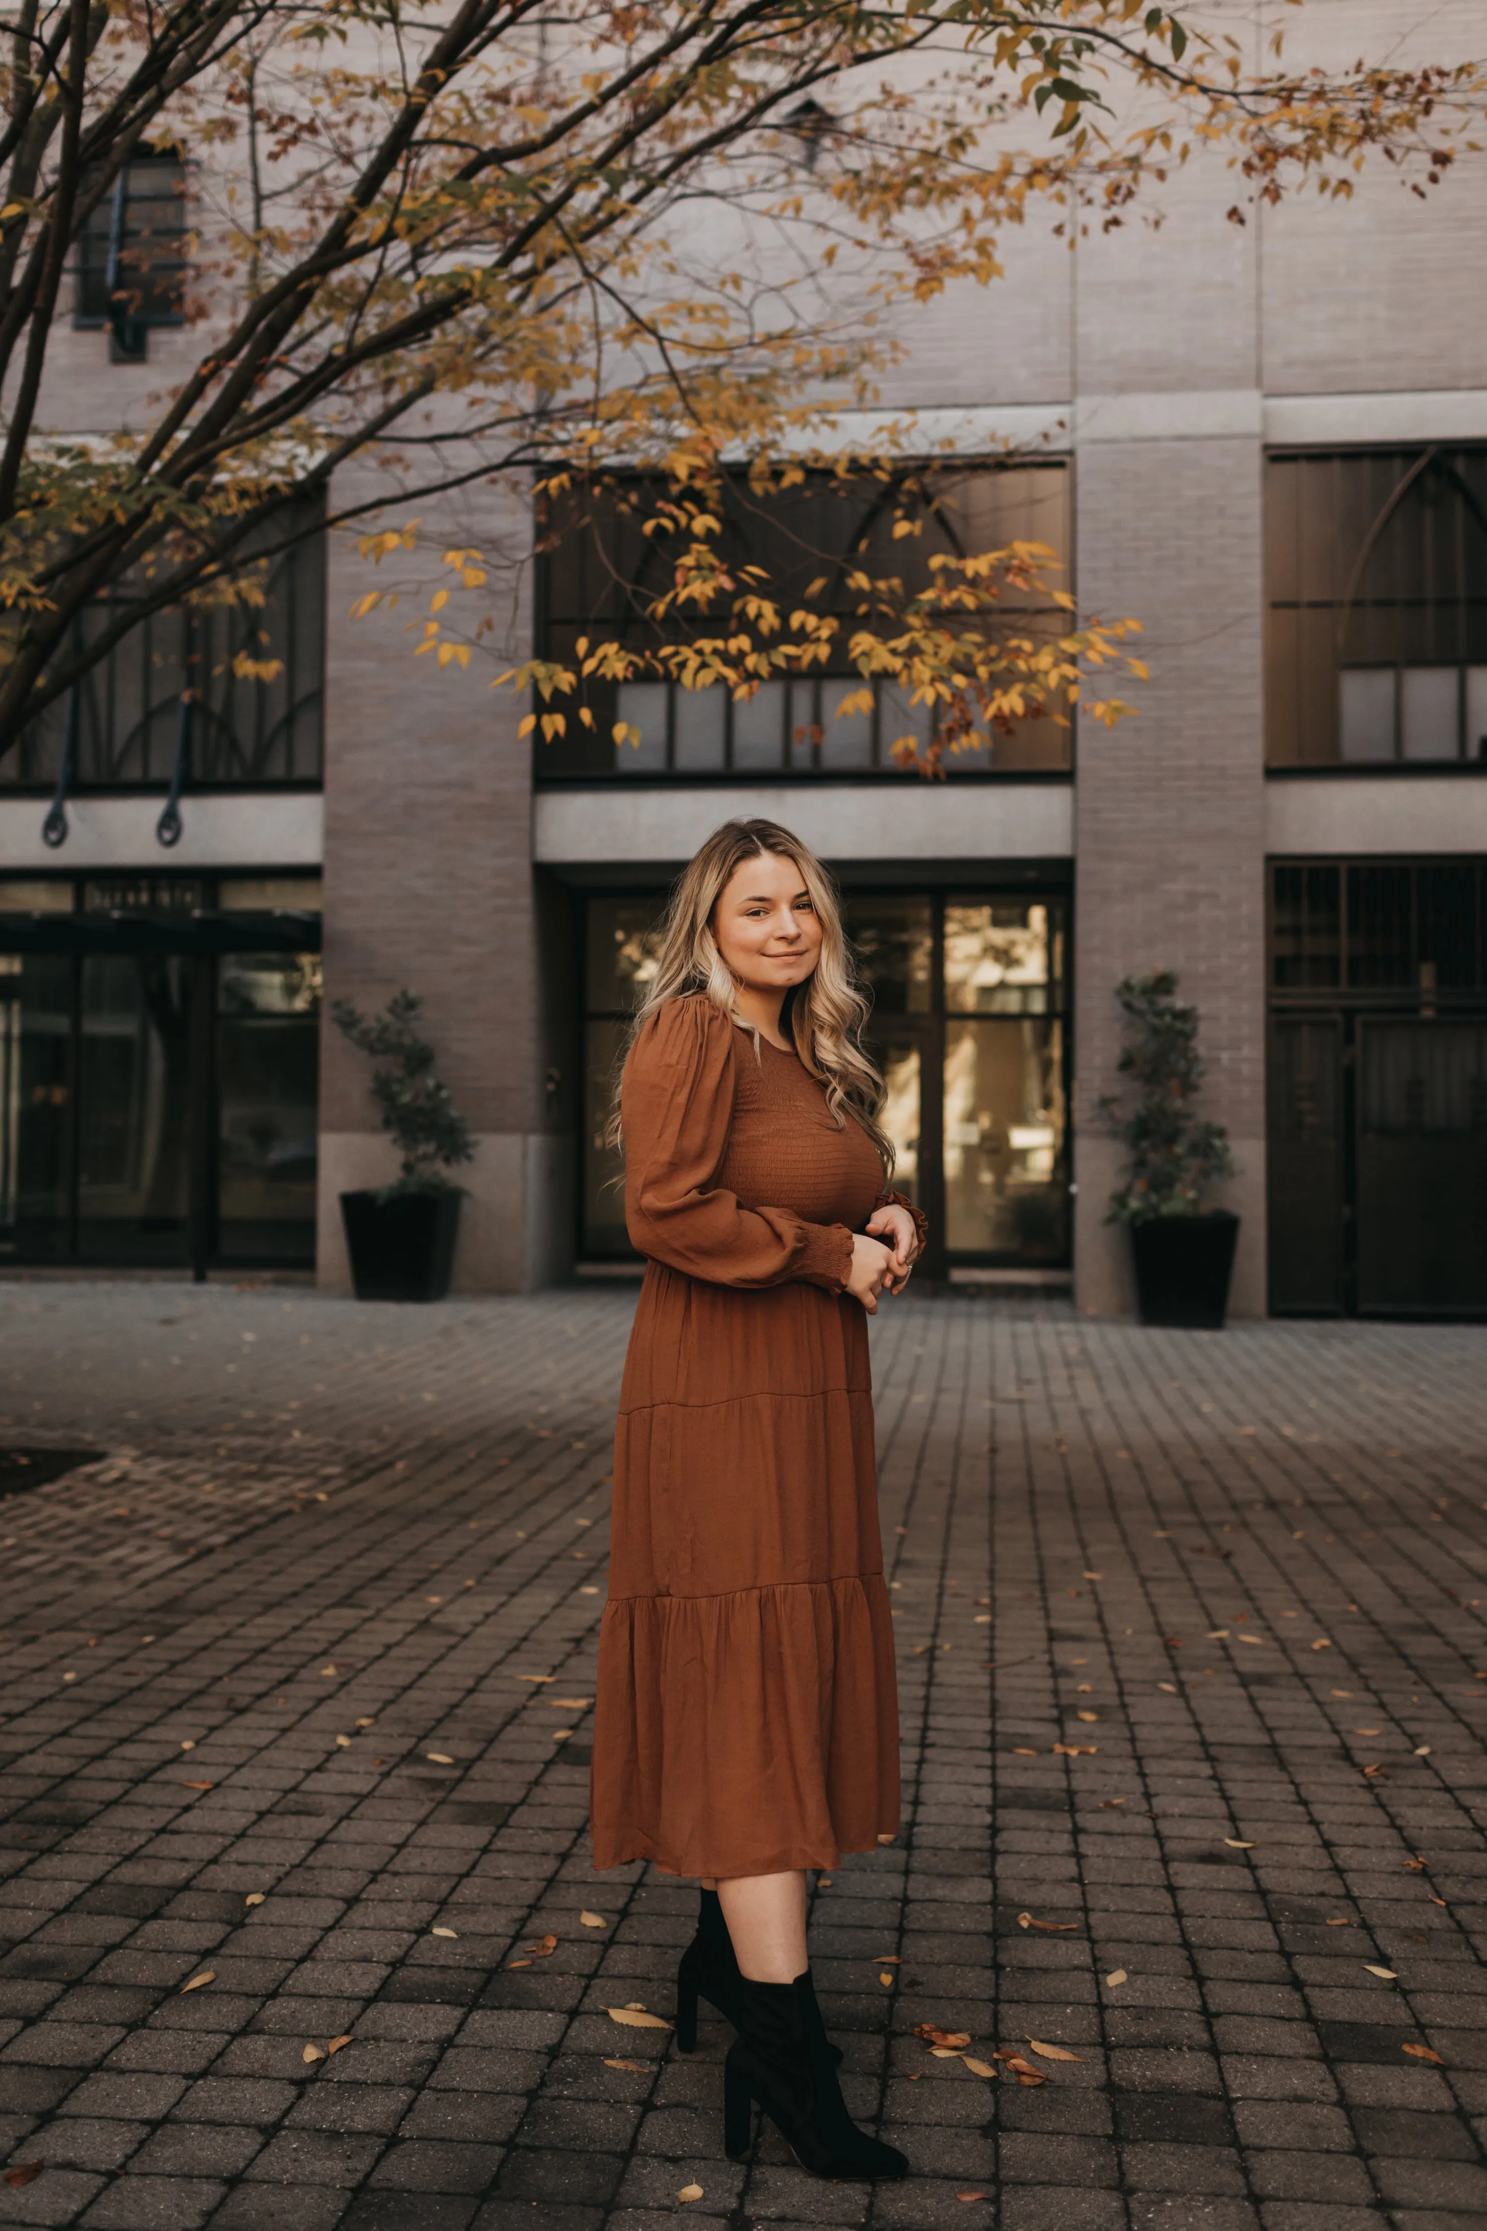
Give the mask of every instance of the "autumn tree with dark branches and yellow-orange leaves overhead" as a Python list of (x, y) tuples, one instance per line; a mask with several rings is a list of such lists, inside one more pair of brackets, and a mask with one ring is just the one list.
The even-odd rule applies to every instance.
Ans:
[[(1117, 223), (1213, 143), (1235, 221), (1347, 192), (1371, 149), (1422, 190), (1483, 85), (1289, 76), (1280, 51), (1255, 76), (1144, 0), (11, 0), (4, 29), (0, 747), (145, 616), (252, 602), (312, 506), (406, 549), (386, 482), (346, 471), (368, 460), (404, 511), (502, 477), (644, 506), (653, 643), (519, 665), (537, 718), (635, 660), (742, 692), (845, 660), (968, 741), (1063, 703), (1121, 663), (1124, 625), (999, 622), (1046, 553), (858, 569), (825, 611), (729, 564), (725, 480), (769, 502), (876, 473), (912, 544), (934, 475), (894, 477), (892, 433), (843, 444), (825, 402), (869, 399), (896, 297), (992, 281), (1039, 205)], [(140, 219), (152, 176), (174, 185)], [(163, 303), (189, 339), (103, 442), (47, 422), (78, 286), (123, 355)], [(448, 558), (421, 647), (466, 663), (493, 558)]]

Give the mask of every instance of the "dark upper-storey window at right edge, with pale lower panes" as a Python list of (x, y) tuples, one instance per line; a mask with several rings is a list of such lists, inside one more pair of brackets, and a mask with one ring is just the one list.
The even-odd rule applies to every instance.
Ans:
[(1269, 761), (1487, 759), (1487, 448), (1271, 457)]

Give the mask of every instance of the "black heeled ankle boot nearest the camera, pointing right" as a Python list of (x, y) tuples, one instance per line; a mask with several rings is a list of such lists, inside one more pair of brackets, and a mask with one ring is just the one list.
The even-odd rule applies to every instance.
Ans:
[(738, 2037), (722, 2073), (722, 2146), (749, 2151), (758, 2099), (794, 2157), (816, 2177), (907, 2177), (910, 2164), (847, 2115), (809, 1968), (794, 1983), (738, 1979)]

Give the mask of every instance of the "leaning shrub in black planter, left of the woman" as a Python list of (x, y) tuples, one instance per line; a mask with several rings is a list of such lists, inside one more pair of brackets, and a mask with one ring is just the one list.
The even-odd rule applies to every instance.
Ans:
[(399, 991), (381, 1015), (361, 1015), (350, 999), (330, 1008), (352, 1046), (381, 1064), (372, 1100), (404, 1165), (392, 1185), (341, 1194), (357, 1301), (444, 1301), (455, 1267), (464, 1187), (446, 1169), (468, 1162), (475, 1142), (435, 1075), (435, 1049), (417, 1028), (421, 1006), (417, 993)]

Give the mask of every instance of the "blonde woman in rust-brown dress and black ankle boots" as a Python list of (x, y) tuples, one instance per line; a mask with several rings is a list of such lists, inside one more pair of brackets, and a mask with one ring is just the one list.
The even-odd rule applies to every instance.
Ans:
[(921, 1220), (883, 1191), (865, 1013), (820, 863), (774, 821), (716, 830), (676, 888), (620, 1095), (649, 1263), (593, 1742), (595, 1865), (702, 1881), (678, 2044), (698, 1992), (738, 2028), (729, 2155), (756, 2099), (829, 2177), (907, 2171), (847, 2117), (805, 1952), (805, 1870), (898, 1827), (867, 1316)]

